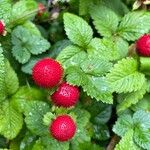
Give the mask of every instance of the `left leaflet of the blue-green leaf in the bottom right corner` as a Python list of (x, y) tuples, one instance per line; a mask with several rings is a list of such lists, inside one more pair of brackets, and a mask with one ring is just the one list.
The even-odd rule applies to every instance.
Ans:
[(113, 131), (123, 137), (129, 129), (133, 129), (133, 119), (131, 115), (123, 114), (119, 116), (115, 125), (113, 126)]

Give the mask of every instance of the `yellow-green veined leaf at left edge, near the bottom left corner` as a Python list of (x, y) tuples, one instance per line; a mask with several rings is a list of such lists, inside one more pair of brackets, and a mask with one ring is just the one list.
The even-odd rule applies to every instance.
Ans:
[(8, 100), (0, 105), (0, 134), (7, 139), (15, 138), (23, 124), (22, 115), (16, 111)]

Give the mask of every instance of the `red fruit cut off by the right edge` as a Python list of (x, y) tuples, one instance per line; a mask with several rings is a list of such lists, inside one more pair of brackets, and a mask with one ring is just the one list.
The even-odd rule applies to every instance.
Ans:
[(150, 34), (145, 34), (138, 39), (136, 49), (139, 55), (150, 56)]

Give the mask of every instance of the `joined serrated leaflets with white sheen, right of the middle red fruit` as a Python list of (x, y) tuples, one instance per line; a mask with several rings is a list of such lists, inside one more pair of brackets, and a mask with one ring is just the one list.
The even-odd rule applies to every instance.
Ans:
[(82, 86), (87, 95), (105, 103), (112, 103), (112, 93), (104, 77), (95, 77), (85, 74), (79, 67), (72, 66), (66, 71), (67, 81), (70, 84)]

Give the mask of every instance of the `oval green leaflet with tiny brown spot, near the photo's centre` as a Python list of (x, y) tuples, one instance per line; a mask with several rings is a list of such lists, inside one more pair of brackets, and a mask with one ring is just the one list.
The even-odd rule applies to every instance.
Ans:
[(112, 63), (101, 58), (87, 58), (81, 63), (82, 70), (89, 75), (102, 76), (109, 72), (112, 68)]

